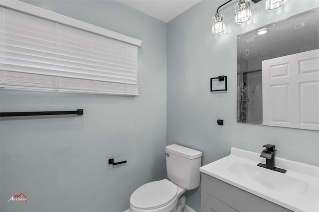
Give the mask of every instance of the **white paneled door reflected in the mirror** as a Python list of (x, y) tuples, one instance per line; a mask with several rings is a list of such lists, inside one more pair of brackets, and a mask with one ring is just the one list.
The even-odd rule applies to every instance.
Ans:
[(262, 64), (263, 124), (319, 130), (319, 50)]

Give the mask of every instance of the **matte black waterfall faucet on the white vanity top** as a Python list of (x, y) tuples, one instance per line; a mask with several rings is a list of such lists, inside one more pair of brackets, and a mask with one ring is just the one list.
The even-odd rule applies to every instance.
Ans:
[(275, 163), (275, 152), (277, 151), (275, 149), (276, 146), (272, 145), (272, 144), (266, 144), (263, 147), (266, 147), (266, 149), (264, 149), (261, 152), (260, 157), (266, 158), (266, 165), (259, 163), (257, 166), (260, 166), (260, 167), (263, 167), (266, 169), (271, 169), (271, 170), (281, 172), (281, 173), (286, 173), (287, 170), (275, 167), (275, 164), (276, 164)]

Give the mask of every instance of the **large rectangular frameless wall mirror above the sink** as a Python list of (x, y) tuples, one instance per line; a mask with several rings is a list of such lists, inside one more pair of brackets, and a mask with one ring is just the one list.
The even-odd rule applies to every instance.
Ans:
[(319, 130), (319, 7), (238, 35), (237, 122)]

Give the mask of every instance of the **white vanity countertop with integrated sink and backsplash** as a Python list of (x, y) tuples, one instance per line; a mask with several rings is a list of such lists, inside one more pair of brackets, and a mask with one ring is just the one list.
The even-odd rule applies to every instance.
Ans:
[(319, 167), (276, 158), (283, 174), (258, 163), (265, 163), (260, 153), (231, 148), (200, 171), (294, 212), (319, 212)]

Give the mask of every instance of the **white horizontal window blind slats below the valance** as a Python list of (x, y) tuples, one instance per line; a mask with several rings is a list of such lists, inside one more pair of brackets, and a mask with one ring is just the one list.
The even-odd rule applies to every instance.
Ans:
[(139, 94), (133, 44), (1, 7), (0, 48), (1, 88)]

